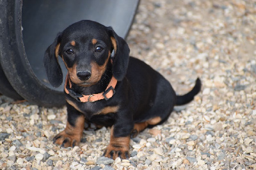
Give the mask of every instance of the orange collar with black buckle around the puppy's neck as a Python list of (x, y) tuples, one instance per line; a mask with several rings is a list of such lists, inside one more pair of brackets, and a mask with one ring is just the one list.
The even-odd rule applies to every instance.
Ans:
[[(72, 85), (67, 73), (64, 89), (67, 94), (69, 94), (71, 97), (75, 98), (79, 102), (95, 102), (97, 100), (102, 100), (104, 98), (105, 100), (109, 100), (109, 98), (113, 97), (113, 95), (116, 93), (116, 83), (116, 78), (112, 76), (111, 81), (109, 82), (108, 87), (104, 92), (92, 95), (81, 95), (71, 89)], [(67, 84), (69, 85), (69, 87), (67, 87)]]

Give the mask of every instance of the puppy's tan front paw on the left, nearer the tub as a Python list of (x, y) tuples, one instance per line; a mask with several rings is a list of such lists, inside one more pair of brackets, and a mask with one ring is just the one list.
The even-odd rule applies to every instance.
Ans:
[(74, 147), (77, 146), (81, 141), (81, 135), (67, 134), (65, 130), (56, 135), (53, 139), (53, 143), (60, 144), (61, 147)]

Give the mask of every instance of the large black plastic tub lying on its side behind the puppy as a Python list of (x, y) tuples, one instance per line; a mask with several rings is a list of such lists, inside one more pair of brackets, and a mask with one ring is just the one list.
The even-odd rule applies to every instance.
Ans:
[[(0, 3), (0, 93), (60, 107), (63, 85), (47, 81), (43, 58), (57, 33), (83, 19), (112, 26), (126, 37), (139, 0), (13, 0)], [(64, 68), (62, 63), (62, 68)], [(63, 69), (63, 75), (66, 73)], [(65, 76), (63, 76), (65, 77)]]

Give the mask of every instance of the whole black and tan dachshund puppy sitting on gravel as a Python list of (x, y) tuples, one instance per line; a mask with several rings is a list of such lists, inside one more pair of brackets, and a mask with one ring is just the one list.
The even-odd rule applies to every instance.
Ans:
[[(111, 56), (114, 50), (114, 55)], [(65, 81), (67, 127), (54, 137), (61, 146), (81, 141), (84, 122), (111, 127), (104, 156), (128, 158), (130, 137), (167, 120), (174, 105), (187, 104), (200, 91), (200, 79), (177, 96), (166, 79), (139, 59), (129, 57), (125, 40), (112, 27), (81, 20), (58, 34), (45, 51), (49, 82), (61, 85), (58, 56), (68, 73)]]

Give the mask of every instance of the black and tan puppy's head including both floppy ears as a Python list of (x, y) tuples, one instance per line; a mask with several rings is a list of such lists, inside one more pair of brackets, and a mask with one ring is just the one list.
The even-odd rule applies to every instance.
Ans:
[[(115, 55), (111, 58), (113, 50)], [(58, 63), (60, 56), (72, 82), (80, 86), (91, 86), (100, 81), (111, 58), (113, 76), (122, 81), (129, 63), (129, 51), (125, 40), (116, 35), (112, 27), (81, 20), (56, 36), (45, 51), (44, 66), (52, 86), (60, 86), (63, 80)]]

